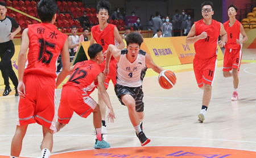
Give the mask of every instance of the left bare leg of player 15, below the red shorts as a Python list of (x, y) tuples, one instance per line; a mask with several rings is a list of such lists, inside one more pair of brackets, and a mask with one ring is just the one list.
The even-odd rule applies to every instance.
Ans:
[(22, 149), (22, 141), (27, 131), (27, 126), (16, 126), (16, 131), (11, 141), (11, 156), (19, 157), (20, 151)]

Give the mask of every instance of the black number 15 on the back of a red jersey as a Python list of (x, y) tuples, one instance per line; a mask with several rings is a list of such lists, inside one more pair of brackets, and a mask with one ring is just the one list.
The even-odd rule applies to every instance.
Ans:
[(55, 49), (56, 44), (50, 43), (44, 39), (38, 39), (38, 43), (40, 44), (38, 61), (42, 61), (42, 63), (48, 65), (52, 60), (52, 52), (49, 51), (48, 48)]

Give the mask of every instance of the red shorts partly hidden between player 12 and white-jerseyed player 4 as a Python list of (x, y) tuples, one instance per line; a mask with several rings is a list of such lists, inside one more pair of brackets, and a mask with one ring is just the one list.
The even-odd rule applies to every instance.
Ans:
[[(106, 60), (104, 60), (101, 64), (101, 69), (104, 71), (106, 66)], [(117, 60), (114, 59), (114, 57), (111, 57), (109, 62), (109, 75), (105, 78), (105, 88), (108, 89), (109, 81), (112, 80), (113, 85), (117, 83)]]

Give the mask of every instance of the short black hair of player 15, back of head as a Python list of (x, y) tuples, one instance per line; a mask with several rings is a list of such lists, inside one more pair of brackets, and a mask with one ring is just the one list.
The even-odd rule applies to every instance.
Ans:
[(36, 11), (42, 22), (51, 22), (57, 11), (57, 3), (55, 0), (41, 0), (36, 6)]

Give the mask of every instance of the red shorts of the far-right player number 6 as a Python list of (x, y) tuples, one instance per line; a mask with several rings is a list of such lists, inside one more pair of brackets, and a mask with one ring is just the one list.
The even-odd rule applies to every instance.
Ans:
[(223, 60), (223, 71), (230, 71), (232, 69), (240, 69), (242, 60), (242, 49), (225, 49)]

